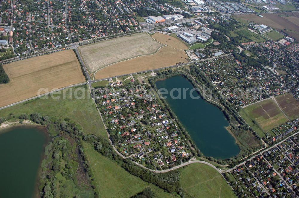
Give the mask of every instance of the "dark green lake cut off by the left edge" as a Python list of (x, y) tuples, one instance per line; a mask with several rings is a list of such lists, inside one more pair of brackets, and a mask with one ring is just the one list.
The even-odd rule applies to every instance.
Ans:
[(35, 197), (47, 143), (45, 128), (15, 126), (0, 131), (0, 197)]

